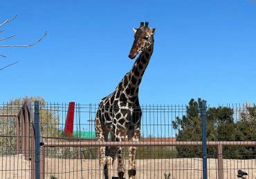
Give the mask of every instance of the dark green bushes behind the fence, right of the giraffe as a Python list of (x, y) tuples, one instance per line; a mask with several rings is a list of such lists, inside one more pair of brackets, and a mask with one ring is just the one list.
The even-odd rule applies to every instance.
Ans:
[[(173, 121), (177, 141), (201, 141), (201, 118), (199, 116), (201, 99), (191, 99), (186, 115)], [(255, 141), (256, 140), (256, 107), (246, 106), (239, 112), (239, 120), (234, 121), (234, 111), (230, 107), (210, 107), (206, 112), (207, 140), (209, 141)], [(178, 157), (201, 157), (202, 147), (176, 147)], [(217, 147), (208, 147), (208, 156), (217, 157)], [(255, 147), (223, 147), (223, 158), (249, 159), (256, 158)]]

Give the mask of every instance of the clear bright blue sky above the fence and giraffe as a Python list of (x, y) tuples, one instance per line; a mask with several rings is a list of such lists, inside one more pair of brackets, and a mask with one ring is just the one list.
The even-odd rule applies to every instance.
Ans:
[[(143, 104), (256, 102), (256, 1), (1, 1), (0, 19), (18, 14), (1, 38), (1, 101), (43, 96), (49, 102), (98, 103), (134, 61), (132, 28), (149, 21), (155, 48), (140, 85)], [(3, 43), (1, 43), (3, 44)]]

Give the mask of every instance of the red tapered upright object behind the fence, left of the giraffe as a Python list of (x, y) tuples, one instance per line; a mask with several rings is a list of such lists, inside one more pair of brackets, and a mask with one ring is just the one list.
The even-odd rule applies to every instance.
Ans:
[(75, 102), (68, 104), (68, 114), (66, 114), (66, 123), (64, 128), (64, 136), (73, 136), (73, 125), (74, 125), (74, 113), (75, 113)]

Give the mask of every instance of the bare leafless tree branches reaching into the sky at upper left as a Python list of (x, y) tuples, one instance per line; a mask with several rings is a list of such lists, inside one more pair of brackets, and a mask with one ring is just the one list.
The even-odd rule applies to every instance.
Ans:
[[(15, 20), (16, 17), (17, 17), (17, 15), (15, 17), (12, 17), (12, 19), (6, 19), (6, 21), (3, 21), (3, 23), (0, 23), (0, 34), (2, 32), (4, 32), (4, 30), (1, 30), (1, 28), (3, 28), (3, 26), (6, 25), (7, 23), (10, 23), (10, 21)], [(30, 43), (28, 45), (0, 45), (0, 48), (29, 48), (29, 47), (39, 43), (39, 41), (42, 41), (42, 39), (44, 39), (46, 34), (47, 34), (47, 31), (44, 33), (44, 35), (40, 39), (38, 39), (34, 43)], [(3, 42), (3, 41), (7, 41), (8, 39), (12, 39), (13, 37), (15, 37), (15, 35), (4, 37), (3, 39), (0, 39), (0, 43)], [(0, 58), (6, 58), (6, 56), (3, 55), (3, 54), (0, 54)], [(15, 65), (16, 63), (18, 63), (18, 61), (16, 61), (15, 63), (10, 63), (9, 65), (6, 65), (4, 67), (1, 67), (0, 71), (5, 69), (6, 67), (10, 67), (11, 65)]]

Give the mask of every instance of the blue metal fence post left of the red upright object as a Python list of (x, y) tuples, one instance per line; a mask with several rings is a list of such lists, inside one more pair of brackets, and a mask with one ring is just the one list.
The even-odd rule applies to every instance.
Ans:
[(40, 178), (39, 101), (35, 101), (34, 127), (35, 127), (35, 178), (39, 179)]

